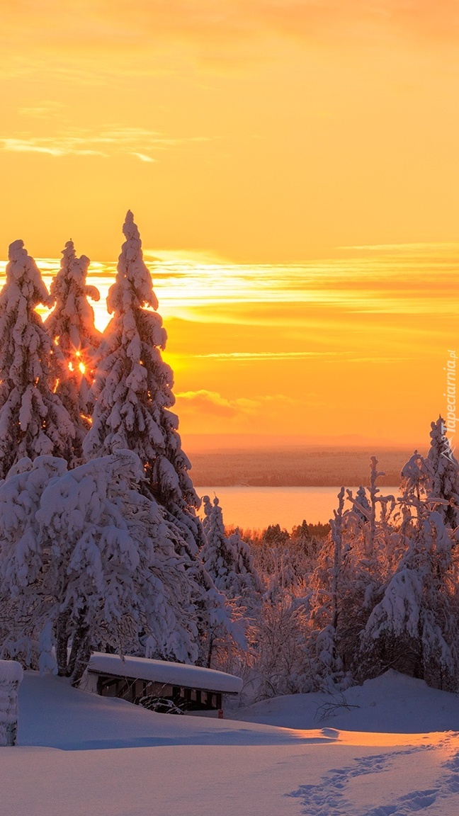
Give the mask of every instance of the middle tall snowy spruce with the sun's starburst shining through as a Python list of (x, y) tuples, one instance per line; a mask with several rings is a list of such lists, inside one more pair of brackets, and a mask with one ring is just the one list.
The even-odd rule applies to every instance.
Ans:
[(87, 397), (94, 380), (94, 358), (101, 335), (94, 325), (94, 310), (87, 297), (99, 300), (96, 286), (87, 286), (89, 258), (75, 255), (74, 242), (68, 241), (62, 251), (60, 270), (51, 283), (55, 306), (45, 326), (59, 346), (67, 366), (66, 376), (56, 388), (74, 426), (76, 463), (82, 456), (82, 441), (90, 421)]

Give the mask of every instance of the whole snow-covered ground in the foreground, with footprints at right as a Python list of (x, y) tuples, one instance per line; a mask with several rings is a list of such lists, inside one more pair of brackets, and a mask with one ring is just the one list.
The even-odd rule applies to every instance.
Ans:
[(331, 700), (318, 721), (326, 702), (276, 698), (219, 721), (144, 711), (28, 673), (20, 747), (0, 748), (0, 812), (456, 816), (456, 695), (388, 672), (347, 691), (347, 707)]

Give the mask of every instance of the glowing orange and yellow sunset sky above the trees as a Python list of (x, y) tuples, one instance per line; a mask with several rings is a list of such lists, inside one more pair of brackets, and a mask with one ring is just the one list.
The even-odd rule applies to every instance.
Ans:
[(71, 237), (104, 288), (130, 207), (185, 434), (426, 446), (458, 336), (456, 0), (0, 10), (0, 257), (21, 237), (46, 272)]

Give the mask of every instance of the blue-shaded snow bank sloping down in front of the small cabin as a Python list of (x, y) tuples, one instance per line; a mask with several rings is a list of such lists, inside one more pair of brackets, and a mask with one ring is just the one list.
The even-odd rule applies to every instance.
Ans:
[[(88, 749), (172, 745), (287, 745), (329, 743), (336, 734), (298, 734), (200, 716), (150, 712), (116, 698), (74, 689), (56, 676), (25, 672), (19, 690), (18, 745)], [(2, 814), (3, 816), (3, 814)]]

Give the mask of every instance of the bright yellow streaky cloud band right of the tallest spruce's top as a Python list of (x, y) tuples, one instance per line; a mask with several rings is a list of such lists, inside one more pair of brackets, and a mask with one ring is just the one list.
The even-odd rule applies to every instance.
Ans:
[(335, 315), (415, 315), (429, 314), (433, 308), (438, 314), (456, 313), (459, 246), (429, 246), (433, 248), (425, 253), (419, 245), (412, 251), (403, 245), (402, 250), (369, 255), (354, 251), (347, 259), (288, 266), (177, 261), (158, 253), (152, 271), (161, 278), (162, 303), (168, 308), (176, 301), (180, 279), (188, 319), (194, 320), (195, 314), (201, 322), (272, 325), (280, 320), (293, 326), (314, 321), (319, 308)]

